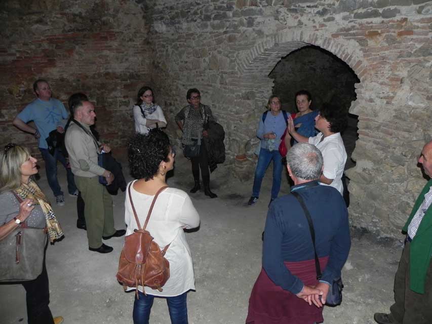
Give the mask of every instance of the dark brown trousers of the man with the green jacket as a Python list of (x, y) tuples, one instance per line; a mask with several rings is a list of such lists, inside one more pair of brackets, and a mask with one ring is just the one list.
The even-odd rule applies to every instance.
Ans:
[(426, 274), (424, 294), (410, 289), (410, 242), (407, 242), (395, 275), (395, 303), (390, 319), (395, 324), (432, 323), (432, 262)]

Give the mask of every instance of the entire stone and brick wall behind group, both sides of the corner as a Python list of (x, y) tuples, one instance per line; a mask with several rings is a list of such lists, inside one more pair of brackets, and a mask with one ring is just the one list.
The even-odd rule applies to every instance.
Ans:
[(359, 116), (351, 224), (397, 235), (425, 183), (416, 158), (432, 138), (431, 1), (7, 0), (0, 15), (0, 144), (35, 148), (11, 122), (37, 77), (63, 101), (88, 93), (114, 146), (133, 132), (130, 105), (142, 84), (154, 87), (177, 142), (174, 115), (197, 87), (226, 130), (226, 163), (250, 179), (268, 74), (292, 51), (317, 46), (360, 79), (349, 110)]

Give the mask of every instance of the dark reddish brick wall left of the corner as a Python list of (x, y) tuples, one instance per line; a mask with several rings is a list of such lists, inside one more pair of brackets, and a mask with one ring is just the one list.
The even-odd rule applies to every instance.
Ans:
[[(0, 145), (37, 143), (12, 126), (45, 78), (53, 97), (84, 92), (95, 103), (101, 138), (122, 146), (133, 134), (131, 104), (151, 78), (146, 10), (132, 1), (45, 0), (0, 4)], [(66, 105), (66, 109), (67, 109)]]

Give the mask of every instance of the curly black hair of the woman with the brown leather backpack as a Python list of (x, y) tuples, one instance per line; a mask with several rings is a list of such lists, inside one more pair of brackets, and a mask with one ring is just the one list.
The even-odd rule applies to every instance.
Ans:
[(136, 134), (128, 142), (129, 170), (135, 179), (153, 179), (162, 161), (169, 161), (170, 140), (160, 129)]

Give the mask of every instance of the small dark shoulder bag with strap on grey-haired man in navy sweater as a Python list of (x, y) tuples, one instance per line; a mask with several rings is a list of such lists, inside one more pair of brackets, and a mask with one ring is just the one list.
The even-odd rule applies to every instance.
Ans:
[[(310, 217), (309, 211), (306, 208), (306, 205), (304, 204), (301, 195), (295, 191), (291, 193), (300, 203), (300, 206), (304, 211), (304, 215), (306, 216), (307, 222), (309, 223), (310, 236), (312, 237), (312, 244), (313, 244), (313, 253), (315, 253), (315, 268), (317, 271), (317, 279), (320, 280), (322, 273), (321, 273), (320, 261), (318, 260), (317, 250), (315, 249), (315, 230), (313, 229), (312, 219)], [(342, 278), (341, 277), (335, 278), (327, 294), (327, 298), (326, 298), (327, 306), (334, 307), (342, 303), (342, 289), (343, 289)]]

